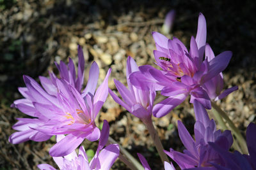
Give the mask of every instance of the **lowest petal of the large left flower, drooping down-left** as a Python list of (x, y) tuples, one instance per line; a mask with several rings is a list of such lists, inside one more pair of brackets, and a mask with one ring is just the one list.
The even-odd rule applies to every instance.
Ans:
[(79, 135), (79, 132), (68, 134), (65, 138), (52, 146), (49, 153), (52, 157), (63, 157), (73, 152), (83, 140), (84, 138)]

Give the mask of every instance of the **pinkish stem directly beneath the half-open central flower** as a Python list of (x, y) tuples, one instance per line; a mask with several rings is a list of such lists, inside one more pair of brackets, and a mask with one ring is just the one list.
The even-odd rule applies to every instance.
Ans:
[(159, 139), (156, 129), (154, 128), (153, 122), (147, 121), (147, 122), (143, 122), (143, 123), (147, 127), (148, 132), (154, 141), (154, 145), (156, 146), (157, 152), (159, 153), (163, 164), (164, 164), (164, 161), (169, 162), (168, 157), (164, 153), (163, 145), (161, 143), (161, 140)]

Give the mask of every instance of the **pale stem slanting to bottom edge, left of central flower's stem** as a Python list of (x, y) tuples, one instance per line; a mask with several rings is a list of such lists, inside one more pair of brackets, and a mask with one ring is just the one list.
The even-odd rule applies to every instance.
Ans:
[[(116, 144), (118, 144), (113, 138), (111, 138), (110, 136), (109, 136), (109, 138), (108, 138), (108, 141), (109, 141), (109, 143), (116, 143)], [(118, 144), (119, 145), (119, 144)], [(138, 162), (138, 160), (136, 160), (134, 157), (132, 157), (132, 155), (129, 153), (129, 152), (127, 152), (127, 150), (125, 150), (125, 148), (123, 147), (123, 146), (121, 146), (121, 145), (119, 145), (119, 148), (120, 148), (120, 152), (122, 152), (126, 157), (127, 157), (127, 159), (129, 159), (129, 160), (127, 160), (126, 159), (126, 157), (124, 157), (124, 155), (122, 155), (122, 154), (120, 154), (120, 155), (122, 155), (122, 156), (120, 156), (119, 157), (119, 159), (120, 160), (122, 160), (122, 162), (124, 162), (124, 164), (127, 166), (127, 167), (129, 167), (130, 169), (138, 169), (138, 170), (144, 170), (144, 167), (143, 166), (141, 166), (141, 164), (140, 164), (140, 162)]]

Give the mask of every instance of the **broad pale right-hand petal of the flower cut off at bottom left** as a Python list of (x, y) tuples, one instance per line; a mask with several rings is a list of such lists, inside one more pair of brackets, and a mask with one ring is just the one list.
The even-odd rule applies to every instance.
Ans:
[(106, 146), (99, 153), (100, 169), (110, 169), (119, 156), (119, 147), (117, 144)]

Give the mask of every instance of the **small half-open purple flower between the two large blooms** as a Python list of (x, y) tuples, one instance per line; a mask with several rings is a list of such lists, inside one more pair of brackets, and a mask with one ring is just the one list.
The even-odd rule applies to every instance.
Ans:
[[(109, 89), (109, 94), (113, 97), (116, 103), (123, 106), (132, 115), (140, 118), (143, 122), (150, 122), (152, 117), (152, 108), (156, 92), (153, 90), (141, 90), (129, 81), (129, 75), (139, 71), (138, 66), (132, 57), (128, 57), (126, 66), (126, 77), (129, 89), (127, 89), (120, 81), (114, 80), (116, 89), (122, 96), (123, 100), (119, 99), (112, 90)], [(145, 89), (145, 88), (143, 88)]]

